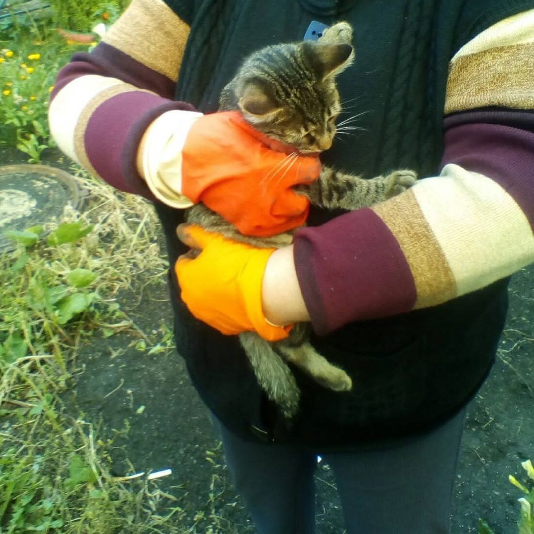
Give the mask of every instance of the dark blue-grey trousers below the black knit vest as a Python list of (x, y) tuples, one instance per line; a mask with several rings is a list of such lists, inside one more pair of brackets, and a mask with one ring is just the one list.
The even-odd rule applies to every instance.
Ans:
[[(348, 534), (447, 534), (465, 410), (387, 450), (321, 454), (332, 468)], [(235, 488), (259, 534), (313, 534), (317, 454), (250, 443), (214, 419)]]

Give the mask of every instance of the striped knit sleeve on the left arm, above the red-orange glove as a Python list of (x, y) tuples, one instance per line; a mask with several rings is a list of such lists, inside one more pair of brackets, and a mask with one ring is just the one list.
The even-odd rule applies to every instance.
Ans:
[(59, 148), (117, 189), (152, 199), (137, 150), (156, 117), (193, 109), (172, 100), (189, 30), (162, 0), (132, 0), (96, 49), (58, 74), (49, 122)]

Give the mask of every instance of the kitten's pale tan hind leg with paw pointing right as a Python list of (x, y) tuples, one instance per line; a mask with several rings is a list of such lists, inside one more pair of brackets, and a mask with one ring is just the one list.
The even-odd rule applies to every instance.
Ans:
[(282, 341), (276, 344), (276, 350), (280, 351), (288, 362), (308, 373), (321, 386), (334, 391), (349, 391), (352, 389), (350, 376), (339, 367), (328, 362), (309, 342), (305, 341), (297, 347), (292, 347)]

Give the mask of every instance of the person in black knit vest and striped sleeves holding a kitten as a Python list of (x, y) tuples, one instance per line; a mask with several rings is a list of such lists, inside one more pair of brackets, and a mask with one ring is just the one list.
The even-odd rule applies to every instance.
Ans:
[[(341, 20), (356, 60), (336, 84), (354, 135), (337, 118), (321, 164), (419, 175), (350, 212), (295, 192), (319, 177), (316, 155), (286, 168), (276, 143), (212, 113), (249, 52)], [(335, 472), (350, 534), (449, 531), (466, 405), (494, 361), (508, 277), (534, 260), (533, 49), (533, 0), (387, 10), (378, 0), (132, 0), (91, 54), (61, 70), (50, 106), (59, 147), (155, 203), (176, 263), (177, 349), (258, 532), (315, 531), (317, 454)], [(273, 112), (272, 97), (256, 98), (259, 114)], [(243, 234), (298, 230), (266, 253), (179, 226), (195, 202)], [(328, 390), (295, 368), (301, 400), (287, 424), (233, 334), (280, 339), (297, 321), (311, 323), (310, 342), (352, 388)]]

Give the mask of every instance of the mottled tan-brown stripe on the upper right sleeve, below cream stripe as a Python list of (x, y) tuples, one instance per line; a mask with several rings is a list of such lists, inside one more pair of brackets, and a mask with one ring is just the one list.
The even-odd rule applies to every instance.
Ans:
[(534, 107), (534, 43), (502, 46), (454, 61), (445, 113), (477, 107)]

